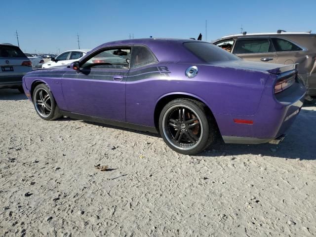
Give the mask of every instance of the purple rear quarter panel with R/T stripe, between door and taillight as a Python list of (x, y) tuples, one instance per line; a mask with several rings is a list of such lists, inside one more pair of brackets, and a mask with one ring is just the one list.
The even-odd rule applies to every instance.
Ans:
[[(159, 98), (170, 94), (196, 97), (214, 115), (251, 116), (270, 77), (251, 70), (200, 65), (197, 76), (189, 79), (185, 76), (189, 66), (192, 65), (161, 63), (147, 67), (156, 68), (156, 72), (147, 74), (141, 74), (145, 68), (131, 69), (126, 82), (126, 121), (154, 126), (155, 106)], [(138, 74), (141, 75), (133, 76)]]

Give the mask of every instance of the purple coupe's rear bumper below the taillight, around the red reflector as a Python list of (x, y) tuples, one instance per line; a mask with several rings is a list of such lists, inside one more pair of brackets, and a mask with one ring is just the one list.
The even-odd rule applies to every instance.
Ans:
[[(225, 143), (260, 144), (285, 134), (301, 111), (306, 88), (296, 82), (273, 95), (266, 87), (258, 111), (253, 116), (214, 115)], [(252, 120), (253, 124), (234, 123), (234, 119)]]

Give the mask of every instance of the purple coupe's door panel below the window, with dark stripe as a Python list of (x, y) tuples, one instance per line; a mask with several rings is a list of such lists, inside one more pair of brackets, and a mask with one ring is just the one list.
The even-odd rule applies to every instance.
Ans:
[[(125, 79), (128, 70), (68, 69), (62, 89), (69, 112), (125, 121)], [(114, 76), (122, 77), (115, 81)]]

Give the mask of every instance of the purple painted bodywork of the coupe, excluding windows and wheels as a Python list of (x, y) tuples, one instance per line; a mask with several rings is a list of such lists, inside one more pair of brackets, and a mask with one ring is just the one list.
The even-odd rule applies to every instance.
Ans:
[[(109, 42), (91, 50), (84, 58), (105, 47), (142, 44), (153, 51), (158, 62), (130, 70), (32, 71), (24, 77), (23, 85), (26, 92), (32, 93), (34, 83), (47, 84), (63, 111), (139, 125), (155, 126), (159, 100), (177, 95), (205, 103), (222, 136), (275, 138), (288, 129), (303, 105), (305, 88), (296, 82), (288, 92), (275, 96), (274, 85), (282, 73), (295, 72), (295, 65), (238, 59), (208, 64), (183, 46), (186, 41), (197, 42), (161, 39)], [(185, 76), (190, 66), (198, 67), (198, 74), (192, 79)], [(281, 103), (283, 99), (286, 101)], [(234, 118), (252, 120), (253, 124), (235, 123)]]

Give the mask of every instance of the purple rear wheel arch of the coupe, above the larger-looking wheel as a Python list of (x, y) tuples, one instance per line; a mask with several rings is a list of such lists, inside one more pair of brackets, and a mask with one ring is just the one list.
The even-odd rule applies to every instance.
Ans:
[(186, 93), (186, 92), (168, 93), (168, 94), (165, 94), (165, 95), (161, 96), (157, 100), (157, 103), (156, 103), (156, 106), (155, 106), (155, 111), (154, 111), (154, 123), (155, 123), (155, 127), (156, 127), (158, 132), (159, 132), (159, 116), (160, 116), (160, 113), (161, 113), (163, 107), (167, 103), (169, 103), (170, 101), (175, 100), (175, 99), (179, 99), (179, 98), (187, 98), (187, 99), (197, 100), (197, 101), (203, 103), (205, 105), (205, 107), (206, 107), (206, 111), (207, 111), (208, 115), (210, 115), (214, 119), (215, 126), (217, 128), (217, 131), (219, 132), (217, 121), (216, 121), (216, 119), (215, 119), (215, 117), (213, 115), (213, 112), (211, 111), (211, 108), (209, 108), (207, 103), (202, 98), (200, 98), (199, 96), (194, 95), (194, 94), (190, 94), (190, 93)]

